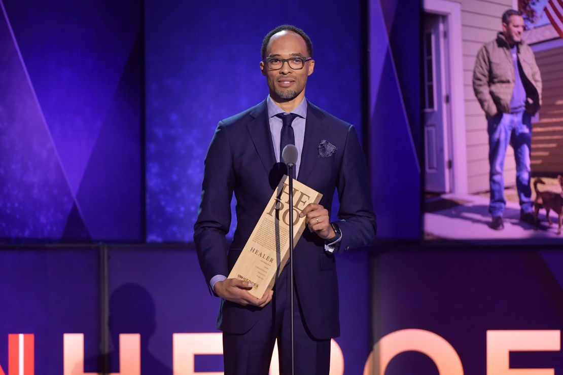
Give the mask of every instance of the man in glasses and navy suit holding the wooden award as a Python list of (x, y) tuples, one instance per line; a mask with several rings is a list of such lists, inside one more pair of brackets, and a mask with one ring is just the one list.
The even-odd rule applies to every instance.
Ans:
[[(328, 374), (330, 338), (340, 333), (334, 254), (369, 245), (376, 233), (368, 170), (354, 126), (305, 99), (315, 67), (311, 56), (311, 40), (301, 29), (282, 25), (270, 31), (260, 62), (269, 96), (220, 121), (205, 158), (194, 240), (205, 279), (222, 299), (217, 328), (223, 331), (226, 374), (267, 374), (276, 338), (280, 372), (291, 373), (291, 314), (296, 373)], [(274, 290), (258, 299), (248, 292), (251, 283), (226, 275), (285, 171), (280, 153), (287, 143), (299, 151), (297, 180), (323, 198), (300, 214), (309, 231), (294, 249), (294, 290), (285, 267)], [(339, 220), (330, 223), (335, 188)], [(233, 193), (238, 224), (229, 245)], [(297, 301), (293, 312), (289, 293)]]

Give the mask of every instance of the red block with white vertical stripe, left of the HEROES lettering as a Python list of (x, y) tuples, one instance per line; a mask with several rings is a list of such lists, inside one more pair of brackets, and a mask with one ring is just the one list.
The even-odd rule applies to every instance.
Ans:
[[(8, 335), (8, 375), (33, 375), (33, 335)], [(0, 366), (0, 375), (6, 375)]]

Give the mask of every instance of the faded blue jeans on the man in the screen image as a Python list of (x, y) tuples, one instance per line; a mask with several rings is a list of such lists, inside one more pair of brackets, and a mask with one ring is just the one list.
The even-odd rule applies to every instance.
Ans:
[(487, 120), (489, 133), (490, 204), (492, 216), (502, 216), (504, 200), (504, 157), (508, 144), (514, 149), (516, 188), (520, 213), (532, 212), (530, 188), (531, 115), (526, 112), (499, 113)]

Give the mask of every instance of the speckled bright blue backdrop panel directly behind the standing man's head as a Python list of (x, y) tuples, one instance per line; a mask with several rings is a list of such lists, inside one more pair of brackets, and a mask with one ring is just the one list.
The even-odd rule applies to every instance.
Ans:
[[(307, 81), (307, 99), (355, 124), (361, 134), (360, 6), (300, 2), (282, 12), (251, 2), (147, 4), (149, 242), (192, 241), (207, 147), (218, 121), (265, 100), (260, 47), (276, 26), (291, 23), (309, 34), (315, 72)], [(231, 229), (235, 225), (233, 217)]]

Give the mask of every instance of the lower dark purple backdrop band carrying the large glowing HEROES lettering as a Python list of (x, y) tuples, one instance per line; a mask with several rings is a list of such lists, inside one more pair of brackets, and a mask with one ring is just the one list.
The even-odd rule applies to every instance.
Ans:
[[(194, 251), (146, 245), (94, 250), (0, 253), (5, 372), (19, 355), (32, 358), (35, 373), (44, 374), (63, 373), (65, 363), (79, 367), (82, 358), (84, 372), (102, 371), (104, 363), (108, 373), (135, 363), (141, 374), (222, 371), (218, 300), (207, 292)], [(109, 277), (99, 284), (101, 263), (107, 263)], [(342, 336), (336, 343), (342, 354), (336, 352), (336, 364), (345, 374), (369, 368), (369, 343), (376, 344), (386, 375), (495, 375), (509, 367), (563, 371), (558, 250), (421, 251), (402, 245), (349, 252), (338, 257), (337, 267)], [(107, 301), (100, 297), (103, 288)], [(109, 312), (104, 327), (100, 303)], [(33, 335), (31, 349), (10, 345), (19, 334), (24, 342)], [(123, 340), (131, 334), (138, 337), (136, 346)], [(82, 351), (71, 345), (77, 335)], [(99, 351), (104, 340), (110, 344)], [(185, 369), (189, 360), (195, 372)]]

